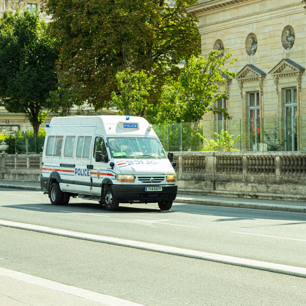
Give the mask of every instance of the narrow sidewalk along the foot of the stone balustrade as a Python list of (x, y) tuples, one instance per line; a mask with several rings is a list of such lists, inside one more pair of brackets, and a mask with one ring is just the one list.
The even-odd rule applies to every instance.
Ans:
[[(0, 180), (0, 188), (41, 191), (39, 182)], [(177, 194), (174, 203), (306, 213), (306, 202)]]

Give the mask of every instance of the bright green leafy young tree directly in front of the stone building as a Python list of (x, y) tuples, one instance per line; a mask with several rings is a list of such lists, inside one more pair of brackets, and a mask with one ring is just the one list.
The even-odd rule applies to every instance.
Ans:
[(229, 48), (225, 48), (224, 52), (212, 50), (207, 59), (192, 56), (181, 69), (177, 81), (167, 77), (162, 87), (156, 122), (199, 121), (208, 111), (231, 118), (226, 109), (214, 106), (214, 102), (226, 98), (226, 92), (220, 90), (219, 85), (236, 76), (226, 67), (237, 60), (228, 51)]

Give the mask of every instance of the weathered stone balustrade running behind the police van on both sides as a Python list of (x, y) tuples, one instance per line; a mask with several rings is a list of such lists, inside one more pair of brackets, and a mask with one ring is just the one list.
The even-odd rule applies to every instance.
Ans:
[[(306, 152), (174, 152), (179, 193), (306, 201)], [(41, 154), (0, 154), (0, 179), (39, 181)]]

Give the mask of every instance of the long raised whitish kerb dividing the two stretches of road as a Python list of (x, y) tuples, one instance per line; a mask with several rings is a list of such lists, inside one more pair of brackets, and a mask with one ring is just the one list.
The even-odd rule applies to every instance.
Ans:
[(177, 255), (183, 256), (188, 258), (194, 259), (202, 259), (208, 260), (218, 263), (225, 263), (239, 267), (246, 267), (251, 269), (275, 272), (280, 274), (287, 274), (292, 276), (298, 276), (306, 278), (306, 268), (303, 267), (294, 267), (289, 265), (283, 265), (279, 263), (269, 263), (266, 261), (259, 261), (254, 259), (246, 259), (246, 258), (239, 258), (227, 255), (220, 255), (202, 251), (195, 251), (195, 250), (188, 250), (184, 248), (177, 248), (171, 247), (162, 244), (155, 244), (143, 241), (136, 241), (136, 240), (129, 240), (124, 238), (116, 238), (116, 237), (107, 237), (102, 235), (95, 235), (95, 234), (88, 234), (88, 233), (81, 233), (75, 232), (70, 230), (61, 230), (61, 229), (54, 229), (47, 226), (38, 226), (33, 224), (27, 223), (20, 223), (20, 222), (13, 222), (7, 220), (0, 220), (0, 226), (8, 226), (22, 230), (30, 230), (35, 231), (38, 233), (46, 233), (51, 235), (81, 239), (81, 240), (88, 240), (100, 243), (107, 243), (107, 244), (114, 244), (129, 248), (136, 248), (146, 251), (152, 252), (160, 252), (170, 255)]

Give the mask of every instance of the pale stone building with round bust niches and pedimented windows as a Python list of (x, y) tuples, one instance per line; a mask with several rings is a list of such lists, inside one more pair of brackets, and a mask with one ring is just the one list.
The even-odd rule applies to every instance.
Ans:
[[(241, 134), (243, 150), (274, 142), (306, 150), (305, 0), (199, 0), (186, 8), (199, 18), (202, 55), (231, 47), (237, 73), (221, 88), (233, 117), (206, 114), (204, 136), (221, 128)], [(269, 150), (269, 148), (268, 148)]]

